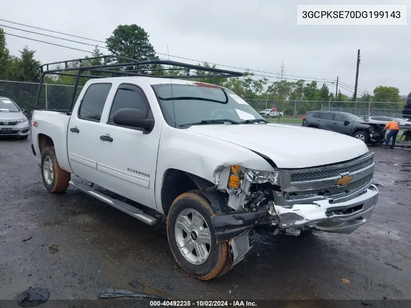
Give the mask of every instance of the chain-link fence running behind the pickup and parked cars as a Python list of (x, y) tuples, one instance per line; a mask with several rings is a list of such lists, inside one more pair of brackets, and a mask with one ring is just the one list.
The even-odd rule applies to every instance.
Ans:
[[(43, 84), (40, 91), (38, 107), (41, 109), (67, 110), (70, 107), (73, 86), (59, 84)], [(76, 96), (82, 87), (78, 87)], [(0, 80), (0, 96), (14, 100), (27, 113), (36, 106), (38, 83)], [(312, 110), (344, 111), (358, 116), (390, 116), (402, 118), (404, 103), (381, 102), (335, 102), (335, 101), (302, 101), (302, 100), (272, 100), (244, 98), (256, 111), (276, 107), (278, 112), (284, 112), (285, 118), (299, 118)]]

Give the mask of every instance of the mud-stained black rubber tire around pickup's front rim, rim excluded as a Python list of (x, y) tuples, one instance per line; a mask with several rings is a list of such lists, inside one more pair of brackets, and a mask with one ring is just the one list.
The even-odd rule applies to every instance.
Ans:
[[(184, 210), (195, 210), (205, 220), (211, 235), (209, 255), (202, 264), (193, 264), (181, 253), (175, 225), (179, 214)], [(214, 214), (210, 201), (198, 190), (183, 193), (177, 197), (171, 205), (167, 216), (167, 237), (171, 252), (179, 266), (191, 276), (200, 280), (211, 280), (224, 275), (232, 267), (232, 256), (227, 241), (218, 242), (212, 227), (211, 216)], [(186, 234), (190, 236), (189, 234)]]

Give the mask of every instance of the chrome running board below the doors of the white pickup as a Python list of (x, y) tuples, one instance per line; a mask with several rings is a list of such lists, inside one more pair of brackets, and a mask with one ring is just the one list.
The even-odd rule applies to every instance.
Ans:
[(82, 183), (75, 183), (73, 181), (69, 181), (69, 184), (71, 186), (74, 186), (77, 189), (80, 189), (81, 191), (85, 192), (86, 194), (99, 199), (100, 201), (103, 201), (104, 203), (107, 203), (108, 205), (111, 205), (112, 207), (115, 207), (116, 209), (119, 209), (120, 211), (124, 212), (125, 214), (128, 214), (134, 218), (137, 218), (138, 220), (141, 220), (145, 222), (146, 224), (152, 226), (157, 223), (157, 218), (151, 217), (147, 214), (145, 214), (142, 210), (125, 203), (123, 201), (117, 200), (110, 198), (106, 196), (105, 194), (102, 194), (98, 191), (96, 191), (94, 188), (90, 187), (89, 185), (85, 185)]

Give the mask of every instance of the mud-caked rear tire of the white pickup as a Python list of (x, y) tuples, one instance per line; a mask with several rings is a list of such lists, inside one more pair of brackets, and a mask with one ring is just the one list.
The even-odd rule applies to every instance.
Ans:
[[(50, 162), (53, 164), (53, 170), (50, 173), (53, 173), (53, 180), (49, 183), (50, 178), (46, 180), (44, 163)], [(43, 184), (46, 189), (51, 193), (62, 193), (66, 191), (69, 187), (69, 181), (71, 174), (66, 170), (60, 168), (60, 165), (57, 162), (57, 157), (55, 156), (54, 146), (48, 146), (44, 149), (41, 155), (41, 178), (43, 179)]]

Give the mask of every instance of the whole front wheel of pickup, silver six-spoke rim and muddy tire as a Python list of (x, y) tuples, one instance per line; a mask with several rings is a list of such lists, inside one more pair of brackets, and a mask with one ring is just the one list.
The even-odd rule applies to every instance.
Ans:
[(210, 201), (198, 190), (183, 193), (171, 205), (167, 237), (179, 266), (191, 276), (211, 280), (231, 269), (227, 241), (217, 243)]

